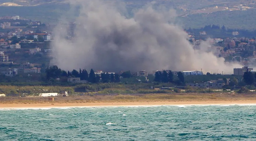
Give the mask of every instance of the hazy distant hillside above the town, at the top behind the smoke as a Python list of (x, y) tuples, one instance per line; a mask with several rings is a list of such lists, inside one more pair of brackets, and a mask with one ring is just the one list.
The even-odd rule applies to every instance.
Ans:
[[(1, 0), (0, 16), (20, 15), (57, 23), (56, 19), (65, 15), (74, 18), (76, 11), (69, 11), (68, 0)], [(106, 0), (107, 2), (107, 0)], [(128, 12), (143, 7), (152, 0), (123, 0)], [(164, 5), (177, 10), (178, 23), (184, 28), (202, 28), (205, 25), (225, 25), (228, 28), (256, 29), (256, 0), (155, 0), (156, 5)], [(244, 22), (246, 21), (246, 22)]]

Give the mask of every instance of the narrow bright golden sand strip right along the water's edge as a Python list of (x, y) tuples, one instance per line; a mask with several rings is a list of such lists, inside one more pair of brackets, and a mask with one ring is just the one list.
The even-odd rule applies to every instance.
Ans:
[(208, 106), (208, 105), (256, 105), (256, 100), (234, 101), (152, 101), (152, 102), (95, 102), (95, 103), (36, 103), (0, 104), (0, 109), (40, 109), (74, 107), (135, 107), (135, 106)]

